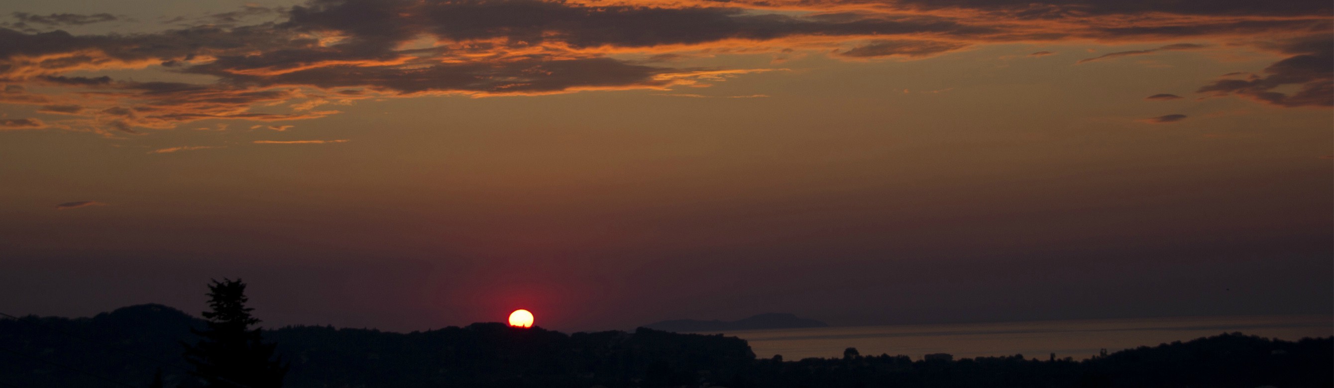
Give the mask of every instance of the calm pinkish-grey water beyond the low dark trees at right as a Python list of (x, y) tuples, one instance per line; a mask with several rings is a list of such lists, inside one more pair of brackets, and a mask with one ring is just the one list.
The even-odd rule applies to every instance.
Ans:
[(955, 359), (1011, 356), (1087, 359), (1106, 348), (1115, 352), (1141, 345), (1186, 341), (1225, 332), (1297, 340), (1334, 333), (1334, 317), (1229, 316), (1066, 320), (983, 324), (928, 324), (883, 327), (834, 327), (727, 332), (750, 341), (758, 357), (783, 355), (786, 360), (842, 357), (843, 349), (862, 355), (906, 355), (919, 360), (926, 353), (951, 353)]

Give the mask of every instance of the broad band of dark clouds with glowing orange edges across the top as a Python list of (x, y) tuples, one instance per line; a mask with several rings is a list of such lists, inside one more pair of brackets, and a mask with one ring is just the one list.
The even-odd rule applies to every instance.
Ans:
[[(48, 121), (59, 121), (9, 119), (0, 128), (141, 133), (197, 120), (316, 119), (338, 113), (325, 107), (362, 99), (666, 91), (768, 71), (651, 61), (682, 53), (920, 59), (1002, 43), (1157, 47), (1079, 63), (1206, 47), (1181, 40), (1247, 45), (1287, 59), (1263, 75), (1222, 79), (1198, 92), (1327, 107), (1329, 8), (1325, 1), (311, 0), (176, 20), (195, 25), (157, 33), (71, 35), (8, 24), (0, 28), (0, 104), (37, 105), (59, 117)], [(279, 21), (241, 24), (255, 15)], [(107, 13), (13, 17), (45, 27), (119, 20)], [(87, 75), (105, 69), (199, 81)], [(1283, 85), (1299, 91), (1277, 91)]]

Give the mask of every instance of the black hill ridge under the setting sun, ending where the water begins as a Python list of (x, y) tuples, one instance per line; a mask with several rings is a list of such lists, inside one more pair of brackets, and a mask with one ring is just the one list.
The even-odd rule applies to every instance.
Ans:
[[(19, 387), (131, 384), (163, 369), (168, 387), (187, 379), (181, 341), (204, 320), (165, 305), (133, 305), (91, 319), (0, 320), (0, 383)], [(332, 327), (264, 331), (291, 361), (285, 387), (628, 387), (696, 383), (699, 372), (743, 371), (744, 340), (640, 328), (566, 335), (476, 323), (395, 333)], [(88, 373), (75, 372), (73, 367)], [(734, 376), (715, 375), (716, 379)], [(115, 387), (107, 385), (107, 387)]]

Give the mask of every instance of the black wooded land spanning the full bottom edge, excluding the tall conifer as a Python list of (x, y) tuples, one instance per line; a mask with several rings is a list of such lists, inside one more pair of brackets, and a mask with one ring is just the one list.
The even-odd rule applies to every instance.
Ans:
[[(181, 341), (205, 321), (163, 305), (91, 319), (0, 320), (0, 385), (164, 387), (189, 383)], [(289, 364), (284, 385), (315, 387), (1334, 387), (1334, 340), (1241, 333), (1090, 360), (1023, 356), (916, 360), (756, 359), (735, 337), (566, 335), (499, 323), (394, 333), (331, 327), (264, 331)]]

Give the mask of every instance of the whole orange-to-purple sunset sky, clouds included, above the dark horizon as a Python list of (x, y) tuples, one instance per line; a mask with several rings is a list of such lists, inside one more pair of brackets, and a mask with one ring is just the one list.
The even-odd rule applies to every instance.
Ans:
[(5, 1), (0, 312), (1331, 315), (1331, 12)]

